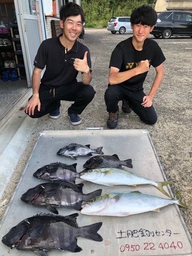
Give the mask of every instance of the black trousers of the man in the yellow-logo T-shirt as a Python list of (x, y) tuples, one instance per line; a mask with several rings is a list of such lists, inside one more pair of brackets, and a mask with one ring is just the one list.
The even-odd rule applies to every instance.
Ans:
[(119, 86), (118, 84), (109, 85), (105, 92), (105, 104), (108, 112), (115, 113), (118, 111), (118, 102), (126, 99), (131, 109), (139, 116), (146, 124), (155, 124), (157, 121), (157, 115), (154, 107), (144, 108), (141, 103), (143, 97), (146, 94), (143, 90), (137, 92), (130, 92), (126, 88)]

